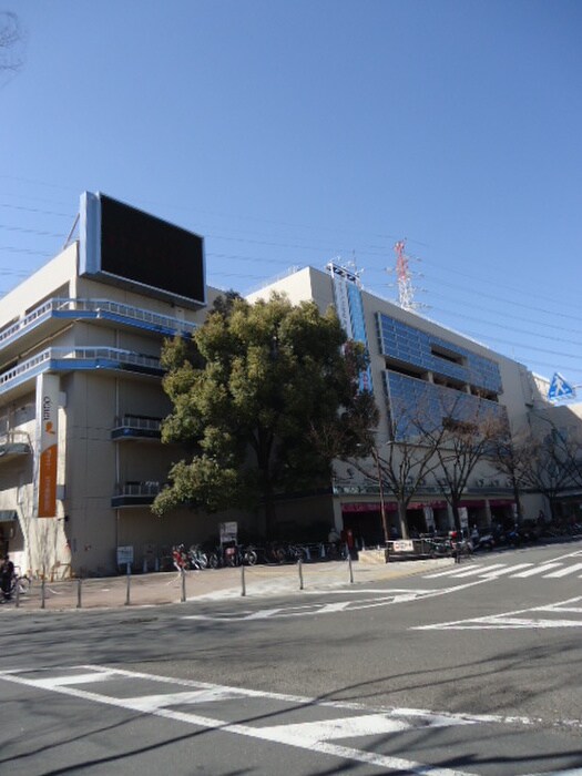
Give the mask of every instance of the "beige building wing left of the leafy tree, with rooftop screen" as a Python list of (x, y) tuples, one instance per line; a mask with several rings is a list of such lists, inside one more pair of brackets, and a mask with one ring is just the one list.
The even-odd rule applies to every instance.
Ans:
[(86, 194), (80, 238), (2, 298), (0, 540), (18, 565), (105, 573), (132, 547), (153, 568), (187, 540), (187, 511), (150, 510), (177, 457), (160, 353), (212, 295), (201, 237)]

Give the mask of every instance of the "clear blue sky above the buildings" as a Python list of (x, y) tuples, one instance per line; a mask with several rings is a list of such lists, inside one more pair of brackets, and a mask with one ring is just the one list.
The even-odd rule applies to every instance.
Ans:
[(339, 257), (395, 299), (406, 239), (422, 315), (582, 384), (578, 0), (2, 9), (27, 39), (0, 75), (0, 294), (101, 191), (203, 234), (242, 293)]

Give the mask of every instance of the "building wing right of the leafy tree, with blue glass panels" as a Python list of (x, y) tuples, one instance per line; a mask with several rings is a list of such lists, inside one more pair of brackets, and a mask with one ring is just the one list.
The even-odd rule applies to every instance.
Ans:
[[(335, 305), (348, 335), (366, 345), (370, 366), (363, 380), (374, 390), (380, 410), (380, 453), (382, 445), (398, 438), (399, 423), (406, 425), (407, 417), (413, 419), (419, 408), (433, 423), (443, 407), (449, 407), (460, 420), (487, 413), (519, 431), (527, 427), (534, 406), (548, 406), (527, 367), (365, 292), (358, 277), (345, 267), (330, 264), (327, 273), (307, 267), (259, 289), (249, 300), (266, 298), (272, 292), (287, 294), (293, 303), (313, 299), (321, 310)], [(399, 522), (395, 499), (389, 491), (380, 492), (374, 461), (369, 473), (361, 477), (354, 468), (338, 463), (330, 506), (336, 527), (351, 529), (366, 543), (377, 543), (384, 539), (382, 507), (392, 531), (399, 529)], [(539, 496), (530, 493), (522, 497), (522, 506), (527, 514), (537, 517), (543, 504)], [(514, 519), (517, 513), (510, 483), (484, 460), (471, 473), (460, 507), (463, 520), (480, 528)], [(280, 511), (293, 522), (293, 506), (282, 506)], [(407, 517), (412, 531), (453, 527), (438, 471), (420, 484)]]

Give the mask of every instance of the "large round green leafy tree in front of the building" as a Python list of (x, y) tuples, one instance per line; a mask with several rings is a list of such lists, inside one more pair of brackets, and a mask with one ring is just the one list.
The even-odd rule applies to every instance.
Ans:
[[(190, 446), (154, 502), (219, 510), (262, 504), (273, 533), (280, 494), (328, 484), (333, 458), (355, 451), (377, 421), (359, 390), (364, 348), (346, 341), (335, 312), (279, 295), (215, 304), (193, 343), (166, 343), (164, 388), (174, 410), (164, 441)], [(318, 445), (330, 428), (333, 445)]]

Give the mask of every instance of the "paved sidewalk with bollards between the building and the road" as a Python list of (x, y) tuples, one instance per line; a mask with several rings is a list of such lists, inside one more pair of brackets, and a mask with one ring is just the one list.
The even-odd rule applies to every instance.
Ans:
[[(370, 584), (448, 568), (449, 558), (394, 563), (327, 561), (289, 565), (256, 565), (234, 569), (133, 574), (103, 579), (45, 582), (33, 580), (19, 601), (0, 606), (9, 611), (38, 612), (72, 609), (118, 609), (149, 606), (181, 601), (224, 601), (268, 598), (280, 594), (308, 595), (326, 590), (369, 588)], [(351, 569), (351, 571), (350, 571)], [(350, 579), (351, 574), (351, 579)], [(303, 589), (302, 589), (303, 588)], [(18, 603), (18, 606), (17, 606)]]

